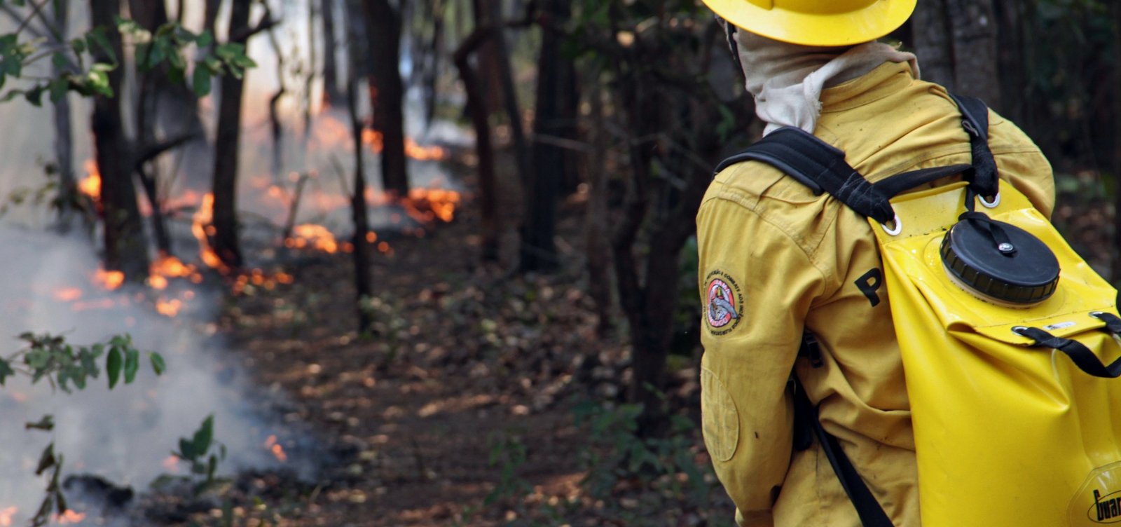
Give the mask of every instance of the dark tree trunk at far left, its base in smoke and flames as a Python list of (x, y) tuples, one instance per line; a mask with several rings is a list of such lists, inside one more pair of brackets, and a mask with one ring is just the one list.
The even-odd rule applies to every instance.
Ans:
[[(90, 0), (91, 24), (105, 28), (105, 36), (117, 57), (124, 56), (115, 22), (120, 11), (120, 0)], [(94, 59), (109, 62), (102, 49), (95, 48), (93, 53)], [(136, 187), (132, 185), (130, 148), (123, 135), (120, 96), (123, 72), (118, 67), (108, 72), (108, 75), (115, 96), (95, 96), (91, 118), (94, 157), (101, 173), (104, 267), (110, 271), (123, 272), (128, 280), (140, 281), (148, 275), (148, 248), (140, 224)]]

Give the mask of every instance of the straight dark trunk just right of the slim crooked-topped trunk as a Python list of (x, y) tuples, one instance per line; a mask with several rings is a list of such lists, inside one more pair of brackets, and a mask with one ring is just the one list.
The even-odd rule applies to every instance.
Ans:
[[(564, 0), (545, 0), (543, 26), (563, 27), (568, 19)], [(534, 156), (531, 173), (524, 174), (525, 197), (521, 222), (521, 271), (550, 271), (557, 268), (556, 205), (560, 183), (565, 177), (565, 150), (555, 139), (564, 136), (560, 99), (564, 89), (560, 57), (560, 35), (544, 30), (537, 59), (537, 96), (534, 117)], [(550, 141), (554, 140), (554, 141)]]

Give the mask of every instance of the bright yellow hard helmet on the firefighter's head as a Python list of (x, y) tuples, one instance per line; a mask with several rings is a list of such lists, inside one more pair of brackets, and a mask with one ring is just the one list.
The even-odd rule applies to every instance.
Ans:
[(804, 46), (847, 46), (880, 38), (910, 17), (916, 0), (703, 0), (756, 35)]

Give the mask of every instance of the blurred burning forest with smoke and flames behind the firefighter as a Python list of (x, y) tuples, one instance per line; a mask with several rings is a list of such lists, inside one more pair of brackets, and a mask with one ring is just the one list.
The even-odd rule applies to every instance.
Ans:
[[(888, 39), (1121, 281), (1121, 6)], [(696, 0), (0, 0), (0, 526), (732, 525), (694, 215), (741, 82)]]

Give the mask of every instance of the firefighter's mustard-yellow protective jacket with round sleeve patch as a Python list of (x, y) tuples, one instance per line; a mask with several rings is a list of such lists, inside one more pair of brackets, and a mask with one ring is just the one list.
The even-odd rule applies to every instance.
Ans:
[[(815, 135), (870, 181), (969, 164), (956, 105), (888, 63), (822, 93)], [(1011, 122), (989, 115), (1000, 176), (1049, 218), (1050, 165)], [(936, 182), (943, 183), (943, 182)], [(703, 313), (702, 416), (716, 474), (742, 526), (859, 526), (817, 442), (791, 444), (795, 370), (896, 526), (919, 525), (915, 441), (874, 235), (827, 194), (761, 163), (721, 172), (697, 214)], [(823, 366), (796, 360), (803, 330)], [(899, 329), (906, 331), (906, 329)]]

